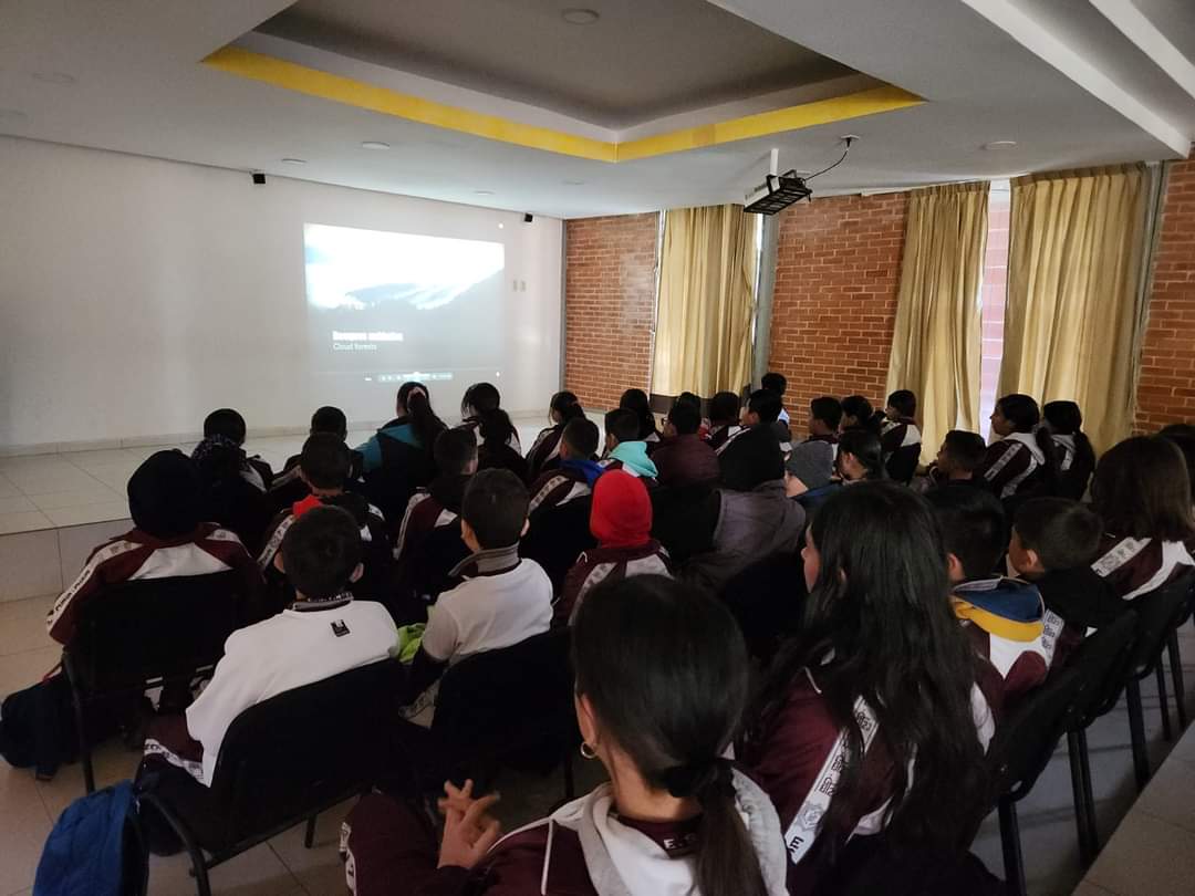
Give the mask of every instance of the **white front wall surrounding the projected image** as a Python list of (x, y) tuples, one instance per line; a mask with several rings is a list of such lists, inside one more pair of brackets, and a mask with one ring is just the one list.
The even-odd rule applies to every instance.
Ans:
[[(503, 243), (503, 405), (546, 407), (558, 220), (0, 137), (0, 446), (195, 432), (220, 406), (250, 429), (306, 425), (320, 404), (392, 416), (392, 386), (312, 385), (304, 222)], [(433, 387), (442, 416), (462, 388)]]

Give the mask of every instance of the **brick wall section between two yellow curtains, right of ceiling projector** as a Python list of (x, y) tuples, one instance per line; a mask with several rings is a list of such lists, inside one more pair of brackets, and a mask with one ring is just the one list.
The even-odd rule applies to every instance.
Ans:
[(768, 367), (789, 379), (797, 428), (817, 395), (859, 393), (882, 406), (907, 213), (907, 194), (780, 213)]

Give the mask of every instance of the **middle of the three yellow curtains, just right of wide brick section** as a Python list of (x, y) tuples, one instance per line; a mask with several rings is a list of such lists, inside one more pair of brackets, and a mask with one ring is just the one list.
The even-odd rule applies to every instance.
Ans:
[(909, 197), (888, 392), (917, 393), (923, 461), (951, 429), (979, 429), (988, 186), (951, 184)]

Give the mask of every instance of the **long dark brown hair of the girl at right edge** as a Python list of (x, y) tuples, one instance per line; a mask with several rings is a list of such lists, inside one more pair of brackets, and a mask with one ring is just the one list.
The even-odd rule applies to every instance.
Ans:
[(1162, 436), (1134, 436), (1110, 448), (1096, 465), (1091, 505), (1117, 538), (1195, 536), (1187, 460)]

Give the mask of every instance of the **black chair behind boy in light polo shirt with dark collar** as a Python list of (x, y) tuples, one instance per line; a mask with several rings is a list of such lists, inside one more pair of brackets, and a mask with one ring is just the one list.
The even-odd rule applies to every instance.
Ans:
[(466, 657), (445, 673), (431, 724), (435, 784), (472, 778), (484, 790), (503, 767), (547, 772), (563, 765), (574, 796), (574, 710), (566, 628)]

